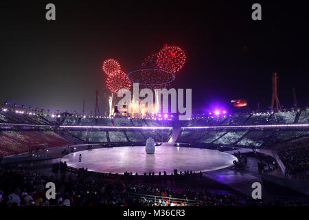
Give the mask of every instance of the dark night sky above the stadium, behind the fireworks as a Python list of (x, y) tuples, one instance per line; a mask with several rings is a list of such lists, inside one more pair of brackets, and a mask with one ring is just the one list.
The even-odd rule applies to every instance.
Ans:
[[(302, 1), (0, 1), (1, 85), (5, 100), (60, 111), (107, 111), (102, 62), (126, 72), (163, 45), (187, 54), (174, 88), (192, 88), (194, 113), (247, 98), (271, 104), (277, 72), (281, 104), (309, 102), (308, 9)], [(45, 5), (56, 5), (56, 21)], [(262, 21), (251, 5), (262, 5)]]

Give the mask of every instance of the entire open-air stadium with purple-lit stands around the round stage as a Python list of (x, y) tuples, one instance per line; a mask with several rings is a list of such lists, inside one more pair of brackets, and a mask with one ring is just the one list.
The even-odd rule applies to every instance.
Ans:
[[(172, 118), (81, 117), (60, 112), (50, 115), (4, 104), (0, 115), (1, 186), (10, 175), (34, 179), (34, 186), (66, 175), (76, 179), (76, 184), (78, 178), (95, 179), (98, 186), (91, 190), (99, 190), (102, 185), (119, 190), (113, 201), (116, 205), (127, 203), (130, 206), (132, 203), (129, 202), (133, 202), (139, 206), (150, 203), (163, 206), (162, 201), (166, 198), (175, 206), (307, 204), (309, 109), (198, 115), (179, 121)], [(141, 155), (136, 160), (135, 154), (146, 155), (144, 146), (148, 137), (155, 140), (156, 148), (165, 151), (155, 154), (159, 160), (163, 157), (163, 162), (143, 164), (139, 162)], [(166, 153), (169, 148), (185, 151), (179, 155), (174, 151)], [(78, 162), (78, 155), (82, 155), (82, 163)], [(188, 160), (189, 164), (181, 166)], [(205, 163), (207, 160), (211, 163)], [(12, 170), (8, 171), (8, 168)], [(179, 189), (187, 187), (187, 181), (193, 180), (196, 188), (210, 191), (197, 196), (198, 191)], [(251, 184), (255, 181), (263, 182), (265, 200), (251, 198)], [(175, 188), (166, 187), (169, 184)], [(85, 188), (87, 190), (90, 188)], [(95, 202), (100, 203), (100, 197), (93, 197), (91, 193), (94, 192), (81, 195), (93, 206), (98, 206)], [(277, 193), (282, 193), (281, 197), (278, 198)], [(33, 199), (35, 197), (39, 195), (32, 195)], [(207, 197), (207, 201), (203, 197)], [(245, 200), (241, 202), (240, 197)], [(139, 201), (141, 198), (143, 201)], [(104, 202), (111, 203), (112, 200)], [(25, 201), (21, 201), (21, 205), (25, 205)]]

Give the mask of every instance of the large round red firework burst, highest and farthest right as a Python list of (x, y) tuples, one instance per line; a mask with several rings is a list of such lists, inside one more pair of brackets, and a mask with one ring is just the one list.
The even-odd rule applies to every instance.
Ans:
[(170, 72), (178, 72), (185, 65), (185, 52), (177, 46), (165, 46), (157, 54), (157, 66)]

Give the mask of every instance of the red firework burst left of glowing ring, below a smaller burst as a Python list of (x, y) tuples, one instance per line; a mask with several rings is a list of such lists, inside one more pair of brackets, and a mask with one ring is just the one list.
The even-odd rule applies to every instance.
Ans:
[(111, 92), (117, 94), (120, 89), (130, 89), (132, 83), (126, 78), (126, 73), (120, 71), (117, 74), (109, 74), (106, 86)]

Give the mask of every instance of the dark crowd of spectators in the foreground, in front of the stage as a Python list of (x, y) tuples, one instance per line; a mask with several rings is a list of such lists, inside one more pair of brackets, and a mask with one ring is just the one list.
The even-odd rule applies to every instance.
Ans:
[[(72, 178), (71, 175), (60, 178), (23, 170), (0, 170), (0, 206), (185, 206), (185, 201), (191, 201), (193, 206), (308, 206), (300, 199), (255, 200), (229, 192)], [(56, 199), (48, 200), (45, 184), (51, 181), (56, 185)], [(146, 195), (158, 199), (149, 199)], [(183, 200), (177, 202), (174, 198)]]

